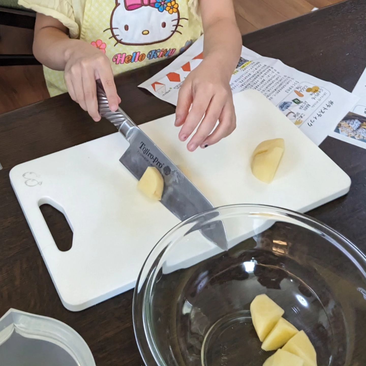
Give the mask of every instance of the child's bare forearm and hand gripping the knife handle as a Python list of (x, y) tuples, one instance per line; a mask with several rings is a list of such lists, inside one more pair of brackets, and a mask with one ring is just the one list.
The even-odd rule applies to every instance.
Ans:
[(117, 95), (107, 56), (84, 41), (70, 39), (67, 28), (59, 20), (37, 14), (33, 53), (45, 66), (65, 71), (65, 83), (71, 98), (95, 121), (100, 120), (96, 97), (97, 79), (104, 86), (109, 108), (112, 111), (118, 108), (121, 100)]

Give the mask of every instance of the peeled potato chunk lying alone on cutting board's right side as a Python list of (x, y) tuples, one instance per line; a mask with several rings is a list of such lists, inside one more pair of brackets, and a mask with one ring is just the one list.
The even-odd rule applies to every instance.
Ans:
[(254, 150), (251, 170), (255, 178), (265, 183), (272, 182), (285, 151), (282, 138), (261, 142)]

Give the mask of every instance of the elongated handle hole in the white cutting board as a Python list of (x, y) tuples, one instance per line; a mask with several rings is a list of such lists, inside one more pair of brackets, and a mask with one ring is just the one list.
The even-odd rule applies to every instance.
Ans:
[(63, 252), (70, 250), (73, 232), (64, 210), (55, 208), (57, 205), (50, 199), (41, 199), (38, 204), (57, 248)]

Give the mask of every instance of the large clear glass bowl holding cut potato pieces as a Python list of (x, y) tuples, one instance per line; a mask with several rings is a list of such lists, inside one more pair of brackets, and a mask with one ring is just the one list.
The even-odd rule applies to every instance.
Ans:
[[(228, 250), (205, 235), (223, 228)], [(318, 366), (366, 365), (365, 255), (319, 221), (254, 205), (191, 217), (149, 254), (133, 302), (145, 364), (262, 366), (273, 352), (251, 322), (259, 294), (305, 330)]]

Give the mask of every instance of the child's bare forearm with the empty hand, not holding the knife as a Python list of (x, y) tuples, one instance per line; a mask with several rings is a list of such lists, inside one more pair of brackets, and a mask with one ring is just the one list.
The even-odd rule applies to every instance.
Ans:
[[(186, 141), (205, 115), (188, 143), (190, 151), (212, 145), (234, 131), (236, 120), (229, 81), (242, 47), (232, 0), (200, 0), (200, 8), (204, 59), (179, 90), (175, 122), (176, 126), (183, 125), (179, 138)], [(212, 132), (217, 120), (219, 125)]]

